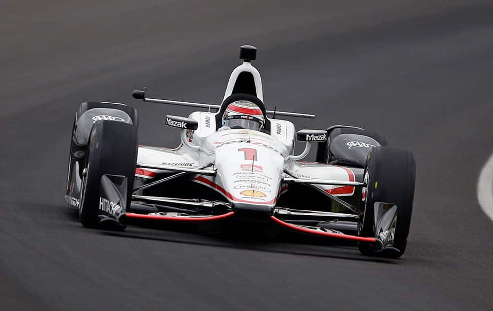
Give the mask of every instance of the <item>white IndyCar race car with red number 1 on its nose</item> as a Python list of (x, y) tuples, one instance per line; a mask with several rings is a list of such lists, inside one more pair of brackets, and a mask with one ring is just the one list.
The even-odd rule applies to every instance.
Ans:
[[(242, 224), (358, 243), (361, 253), (396, 258), (406, 249), (415, 188), (410, 151), (355, 126), (295, 131), (270, 111), (256, 48), (240, 49), (220, 105), (146, 97), (198, 107), (166, 116), (180, 132), (175, 149), (138, 146), (136, 109), (82, 103), (73, 123), (66, 200), (83, 226), (124, 229), (132, 221)], [(272, 117), (268, 117), (272, 116)], [(294, 152), (295, 140), (305, 143)], [(317, 147), (316, 161), (303, 161)], [(233, 225), (234, 227), (234, 225)]]

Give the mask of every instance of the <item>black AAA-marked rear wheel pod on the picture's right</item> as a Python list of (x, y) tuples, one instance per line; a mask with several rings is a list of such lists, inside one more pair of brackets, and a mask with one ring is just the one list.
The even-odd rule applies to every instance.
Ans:
[(346, 164), (365, 167), (366, 156), (380, 144), (371, 137), (357, 134), (337, 135), (330, 143), (332, 164)]

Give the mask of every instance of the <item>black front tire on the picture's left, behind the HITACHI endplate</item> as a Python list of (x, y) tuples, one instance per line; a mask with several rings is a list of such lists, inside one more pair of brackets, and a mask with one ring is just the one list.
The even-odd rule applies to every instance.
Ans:
[(117, 121), (94, 123), (85, 157), (79, 220), (84, 227), (96, 228), (101, 177), (104, 174), (127, 177), (127, 210), (130, 207), (137, 164), (137, 127)]

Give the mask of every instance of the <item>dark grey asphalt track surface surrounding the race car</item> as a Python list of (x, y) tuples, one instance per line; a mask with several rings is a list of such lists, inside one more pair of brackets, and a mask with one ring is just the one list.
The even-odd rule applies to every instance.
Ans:
[[(103, 3), (102, 3), (103, 2)], [(493, 153), (491, 1), (2, 1), (1, 310), (492, 310), (493, 222), (476, 198)], [(337, 245), (87, 230), (63, 200), (80, 102), (138, 108), (140, 143), (173, 147), (133, 100), (222, 99), (258, 47), (268, 108), (352, 124), (415, 152), (405, 255)]]

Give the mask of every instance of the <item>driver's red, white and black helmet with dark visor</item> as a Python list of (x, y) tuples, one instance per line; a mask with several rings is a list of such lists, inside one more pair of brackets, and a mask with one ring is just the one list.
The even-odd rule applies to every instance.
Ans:
[(252, 102), (238, 100), (228, 105), (222, 116), (222, 125), (259, 131), (264, 126), (262, 110)]

